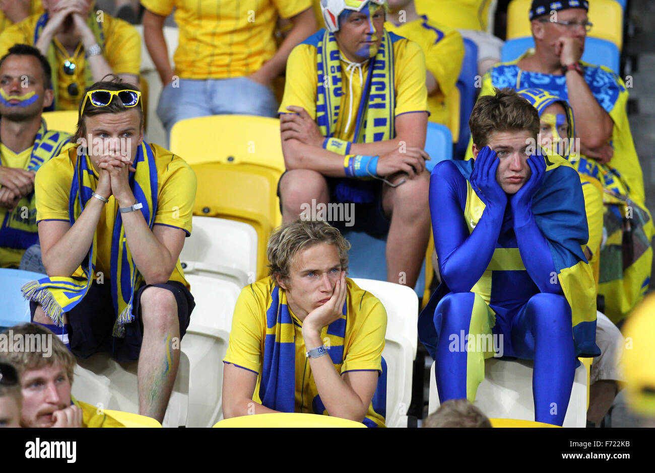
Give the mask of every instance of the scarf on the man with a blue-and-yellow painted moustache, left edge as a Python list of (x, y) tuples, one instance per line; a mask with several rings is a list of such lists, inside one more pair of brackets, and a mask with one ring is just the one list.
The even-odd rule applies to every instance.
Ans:
[[(64, 145), (68, 143), (70, 135), (64, 131), (48, 130), (45, 121), (41, 119), (41, 126), (34, 138), (31, 156), (24, 169), (37, 171), (41, 164), (57, 156)], [(26, 196), (29, 201), (28, 208), (34, 209), (34, 193)], [(32, 212), (33, 217), (33, 212)], [(39, 232), (33, 218), (24, 219), (22, 204), (17, 205), (13, 211), (7, 211), (5, 219), (0, 226), (0, 247), (12, 249), (27, 249), (39, 242)]]

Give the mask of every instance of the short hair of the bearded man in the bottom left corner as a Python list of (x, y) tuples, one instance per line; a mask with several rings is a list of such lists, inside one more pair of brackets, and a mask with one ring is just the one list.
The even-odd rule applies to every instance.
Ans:
[[(12, 335), (11, 337), (9, 337), (10, 332)], [(76, 364), (75, 357), (73, 356), (73, 353), (66, 348), (64, 342), (52, 333), (52, 331), (42, 325), (29, 323), (10, 327), (2, 332), (2, 335), (7, 336), (8, 338), (7, 346), (9, 347), (9, 343), (12, 345), (11, 350), (8, 349), (7, 352), (0, 352), (0, 355), (6, 357), (7, 360), (16, 367), (21, 379), (28, 370), (40, 370), (45, 366), (62, 366), (62, 368), (65, 368), (66, 370), (71, 385), (73, 384), (73, 370), (75, 369)], [(14, 349), (14, 347), (16, 347), (14, 344), (14, 338), (16, 335), (22, 336), (22, 340), (28, 340), (27, 336), (31, 336), (32, 338), (37, 336), (41, 339), (43, 338), (43, 335), (49, 335), (47, 338), (47, 340), (50, 340), (50, 342), (48, 342), (50, 343), (50, 350), (48, 350), (49, 356), (44, 351), (43, 343), (38, 343), (38, 349), (35, 349), (35, 347), (32, 346), (29, 350), (26, 350), (24, 349), (26, 347), (23, 347), (23, 349), (16, 351), (16, 349)]]

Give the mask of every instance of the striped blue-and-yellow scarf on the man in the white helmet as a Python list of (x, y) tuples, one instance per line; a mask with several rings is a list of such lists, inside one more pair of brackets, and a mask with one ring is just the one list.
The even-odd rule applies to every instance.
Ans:
[[(396, 38), (398, 36), (394, 35)], [(316, 122), (321, 134), (330, 138), (335, 133), (341, 96), (341, 61), (339, 46), (333, 33), (325, 31), (316, 46), (318, 88), (316, 90)], [(355, 126), (354, 143), (386, 141), (396, 136), (394, 111), (394, 48), (392, 34), (384, 31), (380, 49), (369, 61), (369, 69)]]

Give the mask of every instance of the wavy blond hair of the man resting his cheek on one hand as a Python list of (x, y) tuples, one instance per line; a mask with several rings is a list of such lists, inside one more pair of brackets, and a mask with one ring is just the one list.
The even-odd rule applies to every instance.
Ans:
[(267, 247), (269, 275), (277, 285), (277, 277), (288, 279), (293, 258), (300, 252), (320, 243), (335, 245), (339, 250), (341, 270), (348, 270), (348, 249), (350, 243), (341, 232), (322, 220), (295, 220), (276, 228)]

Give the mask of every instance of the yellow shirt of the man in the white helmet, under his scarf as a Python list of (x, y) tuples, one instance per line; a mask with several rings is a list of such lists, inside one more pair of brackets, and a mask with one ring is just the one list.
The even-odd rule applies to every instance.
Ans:
[[(317, 33), (318, 34), (318, 33)], [(396, 89), (396, 111), (398, 116), (409, 112), (428, 111), (428, 92), (425, 85), (425, 56), (421, 46), (401, 38), (394, 46), (394, 84)], [(346, 71), (348, 63), (341, 59), (341, 80), (344, 94), (337, 118), (334, 137), (352, 141), (355, 134), (357, 111), (362, 100), (362, 87), (368, 73), (368, 61), (362, 66), (362, 75), (356, 69)], [(316, 46), (298, 44), (293, 48), (287, 61), (286, 86), (279, 113), (289, 113), (289, 105), (303, 107), (312, 119), (316, 120), (316, 90), (318, 72)], [(352, 96), (351, 94), (352, 87)], [(352, 97), (352, 100), (351, 100)], [(348, 115), (350, 114), (350, 123)]]

